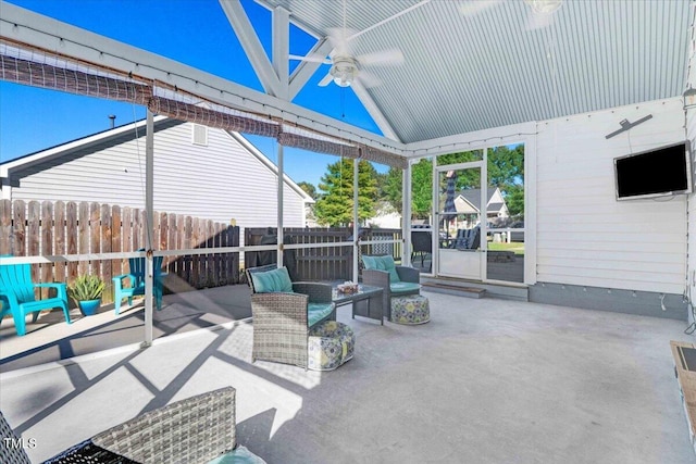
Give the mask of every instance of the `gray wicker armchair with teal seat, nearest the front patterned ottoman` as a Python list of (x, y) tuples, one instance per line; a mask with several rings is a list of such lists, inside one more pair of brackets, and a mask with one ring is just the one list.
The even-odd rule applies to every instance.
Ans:
[(248, 268), (253, 318), (252, 361), (293, 364), (307, 369), (309, 329), (322, 321), (336, 319), (332, 287), (320, 283), (291, 283), (291, 292), (258, 292), (253, 275), (269, 266)]

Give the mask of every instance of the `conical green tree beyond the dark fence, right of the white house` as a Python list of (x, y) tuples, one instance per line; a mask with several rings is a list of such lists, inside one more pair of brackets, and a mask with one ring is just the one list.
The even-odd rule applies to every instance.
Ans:
[[(352, 222), (352, 159), (341, 159), (327, 166), (319, 183), (322, 195), (314, 204), (314, 214), (320, 224), (347, 225)], [(368, 161), (358, 163), (358, 218), (374, 216), (377, 199), (376, 171)]]

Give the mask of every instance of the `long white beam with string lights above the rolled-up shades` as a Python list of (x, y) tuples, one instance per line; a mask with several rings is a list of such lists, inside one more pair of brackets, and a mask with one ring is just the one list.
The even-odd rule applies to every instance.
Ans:
[(406, 154), (403, 143), (162, 55), (1, 0), (0, 11), (0, 37), (45, 50), (54, 50), (64, 57), (99, 63), (100, 66), (133, 73), (136, 78), (159, 80), (229, 108), (268, 114), (288, 124), (297, 124), (396, 154)]

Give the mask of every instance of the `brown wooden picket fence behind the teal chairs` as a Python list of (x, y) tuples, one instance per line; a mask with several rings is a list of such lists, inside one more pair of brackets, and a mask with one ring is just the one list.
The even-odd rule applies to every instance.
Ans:
[[(145, 247), (146, 212), (117, 205), (0, 200), (0, 254), (37, 256), (129, 252)], [(153, 215), (158, 250), (238, 247), (239, 227), (187, 215)], [(239, 283), (239, 253), (164, 256), (163, 267), (194, 288)], [(91, 260), (32, 265), (34, 281), (71, 283), (82, 274), (111, 278), (128, 272), (127, 260)], [(109, 299), (111, 289), (104, 291)]]

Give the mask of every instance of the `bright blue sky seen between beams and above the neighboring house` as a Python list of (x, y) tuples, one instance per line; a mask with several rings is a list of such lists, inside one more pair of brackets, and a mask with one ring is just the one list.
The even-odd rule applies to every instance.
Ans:
[[(217, 0), (8, 1), (262, 91)], [(270, 54), (271, 13), (252, 0), (241, 3)], [(290, 53), (304, 54), (313, 43), (313, 38), (291, 27)], [(294, 102), (381, 134), (351, 89), (316, 86), (327, 71), (322, 66)], [(116, 116), (116, 125), (124, 125), (145, 117), (145, 109), (0, 81), (0, 162), (108, 129), (110, 114)], [(275, 140), (249, 139), (275, 162)], [(295, 181), (318, 185), (326, 165), (335, 161), (331, 155), (285, 150), (285, 171)]]

